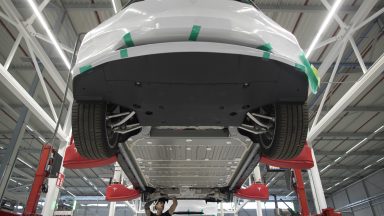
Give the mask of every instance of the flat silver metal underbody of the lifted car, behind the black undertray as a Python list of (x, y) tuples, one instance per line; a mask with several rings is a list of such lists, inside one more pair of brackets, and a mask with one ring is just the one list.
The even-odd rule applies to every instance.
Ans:
[(231, 200), (258, 162), (258, 144), (235, 127), (172, 130), (143, 127), (119, 144), (120, 165), (134, 186), (150, 192), (145, 199)]

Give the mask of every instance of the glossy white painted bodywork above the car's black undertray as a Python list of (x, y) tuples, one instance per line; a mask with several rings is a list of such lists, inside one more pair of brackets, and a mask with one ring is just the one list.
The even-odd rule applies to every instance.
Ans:
[[(193, 26), (201, 27), (198, 39), (188, 41)], [(257, 48), (270, 44), (272, 58), (295, 65), (301, 63), (303, 52), (292, 33), (252, 5), (234, 0), (144, 0), (86, 34), (74, 75), (83, 66), (121, 59), (118, 50), (124, 47), (127, 33), (134, 43), (128, 58), (185, 51), (262, 56)]]

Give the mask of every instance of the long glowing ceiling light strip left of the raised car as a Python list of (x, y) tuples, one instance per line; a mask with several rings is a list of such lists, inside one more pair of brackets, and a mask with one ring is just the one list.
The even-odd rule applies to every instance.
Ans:
[(67, 56), (64, 54), (63, 50), (61, 49), (59, 43), (57, 42), (55, 36), (53, 35), (51, 29), (48, 26), (48, 23), (45, 21), (43, 15), (38, 10), (35, 2), (33, 0), (27, 0), (29, 5), (31, 6), (33, 12), (35, 13), (37, 19), (40, 21), (41, 25), (43, 26), (45, 32), (47, 33), (49, 39), (51, 39), (51, 42), (53, 46), (56, 48), (57, 52), (59, 53), (60, 57), (63, 59), (65, 66), (67, 66), (68, 70), (71, 69), (71, 64), (69, 63)]

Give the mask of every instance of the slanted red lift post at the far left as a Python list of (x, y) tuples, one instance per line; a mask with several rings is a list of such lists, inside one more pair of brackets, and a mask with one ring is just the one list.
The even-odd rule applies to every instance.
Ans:
[(36, 170), (35, 179), (33, 180), (31, 192), (29, 193), (27, 205), (24, 209), (23, 216), (35, 216), (36, 207), (39, 202), (41, 187), (44, 184), (45, 179), (48, 177), (47, 166), (49, 164), (49, 159), (51, 153), (53, 151), (53, 147), (51, 145), (45, 144), (43, 145), (39, 165)]

